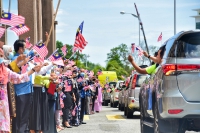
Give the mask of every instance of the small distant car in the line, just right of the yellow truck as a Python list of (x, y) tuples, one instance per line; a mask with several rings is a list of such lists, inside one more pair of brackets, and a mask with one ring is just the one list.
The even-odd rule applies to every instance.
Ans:
[(124, 81), (119, 80), (117, 81), (116, 86), (114, 87), (114, 89), (111, 91), (110, 93), (110, 106), (111, 107), (117, 107), (118, 106), (118, 95), (119, 95), (119, 91), (121, 90), (122, 84)]

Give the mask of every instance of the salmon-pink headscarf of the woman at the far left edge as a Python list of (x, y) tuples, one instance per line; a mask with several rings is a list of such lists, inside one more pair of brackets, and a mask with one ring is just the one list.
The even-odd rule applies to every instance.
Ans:
[[(0, 48), (0, 54), (4, 55), (3, 50)], [(0, 82), (7, 84), (8, 82), (8, 72), (7, 68), (4, 66), (4, 63), (0, 64)]]

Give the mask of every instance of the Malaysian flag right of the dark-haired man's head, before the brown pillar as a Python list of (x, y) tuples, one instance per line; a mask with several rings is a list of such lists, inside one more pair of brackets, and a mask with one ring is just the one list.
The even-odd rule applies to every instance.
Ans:
[(41, 58), (46, 57), (48, 54), (47, 47), (44, 45), (44, 43), (41, 43), (41, 42), (33, 46), (32, 49), (34, 49), (40, 55)]

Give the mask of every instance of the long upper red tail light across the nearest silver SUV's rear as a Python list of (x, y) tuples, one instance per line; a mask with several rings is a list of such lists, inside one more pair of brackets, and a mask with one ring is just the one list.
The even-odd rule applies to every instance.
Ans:
[(163, 73), (168, 76), (175, 71), (186, 71), (200, 69), (200, 65), (195, 64), (166, 64), (162, 66)]

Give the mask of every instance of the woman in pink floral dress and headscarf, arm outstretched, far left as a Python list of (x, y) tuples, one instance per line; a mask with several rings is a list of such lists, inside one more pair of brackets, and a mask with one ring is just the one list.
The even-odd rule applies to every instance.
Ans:
[[(10, 133), (10, 112), (8, 104), (7, 83), (19, 84), (29, 81), (29, 75), (41, 68), (34, 67), (31, 71), (19, 75), (3, 63), (4, 52), (0, 49), (0, 133)], [(36, 70), (37, 69), (37, 70)]]

